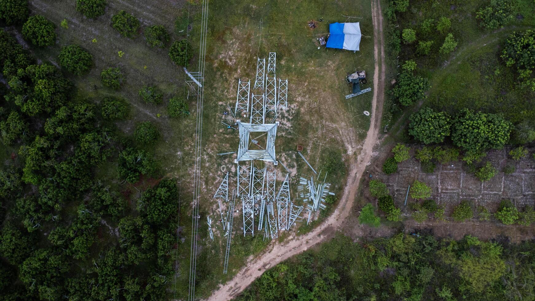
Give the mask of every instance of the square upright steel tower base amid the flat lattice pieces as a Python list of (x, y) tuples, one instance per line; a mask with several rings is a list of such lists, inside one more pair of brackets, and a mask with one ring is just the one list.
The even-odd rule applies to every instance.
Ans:
[[(240, 120), (236, 120), (238, 124), (238, 129), (240, 131), (240, 145), (238, 146), (238, 157), (234, 161), (238, 163), (239, 161), (244, 160), (262, 160), (272, 162), (277, 165), (277, 160), (275, 159), (275, 137), (277, 136), (277, 126), (279, 122), (274, 124), (244, 124)], [(266, 148), (261, 150), (250, 150), (249, 145), (252, 143), (250, 141), (250, 133), (253, 132), (267, 132), (268, 138), (266, 140)], [(238, 189), (241, 195), (241, 190)]]

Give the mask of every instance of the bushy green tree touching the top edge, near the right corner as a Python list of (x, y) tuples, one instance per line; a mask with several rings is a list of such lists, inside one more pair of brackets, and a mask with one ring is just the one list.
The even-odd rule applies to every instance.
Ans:
[(509, 0), (491, 0), (489, 6), (485, 6), (476, 12), (479, 26), (486, 29), (496, 29), (514, 20), (513, 4)]

